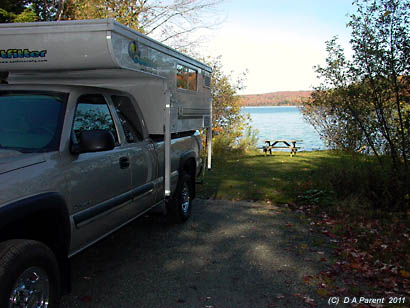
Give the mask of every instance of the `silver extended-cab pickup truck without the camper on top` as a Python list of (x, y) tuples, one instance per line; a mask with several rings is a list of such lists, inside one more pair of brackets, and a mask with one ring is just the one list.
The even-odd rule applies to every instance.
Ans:
[(69, 257), (153, 207), (184, 222), (201, 168), (195, 131), (148, 135), (126, 92), (0, 85), (0, 307), (58, 307)]

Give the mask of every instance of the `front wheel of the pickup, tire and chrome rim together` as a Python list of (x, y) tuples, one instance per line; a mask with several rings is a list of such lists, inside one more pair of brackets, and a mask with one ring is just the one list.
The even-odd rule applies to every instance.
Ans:
[(0, 307), (58, 307), (58, 264), (53, 252), (40, 242), (0, 243), (0, 281)]

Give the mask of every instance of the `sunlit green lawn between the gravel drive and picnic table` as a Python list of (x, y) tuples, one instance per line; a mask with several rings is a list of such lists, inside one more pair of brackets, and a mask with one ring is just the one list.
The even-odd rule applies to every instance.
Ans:
[[(227, 154), (215, 157), (204, 185), (198, 187), (202, 198), (292, 203), (304, 197), (313, 202), (332, 197), (327, 179), (332, 168), (341, 168), (346, 155), (328, 151)], [(320, 188), (320, 189), (318, 189)], [(309, 193), (311, 194), (309, 196)]]

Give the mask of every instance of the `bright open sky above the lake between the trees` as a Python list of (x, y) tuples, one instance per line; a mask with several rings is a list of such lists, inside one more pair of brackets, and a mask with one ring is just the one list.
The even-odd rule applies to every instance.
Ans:
[(326, 40), (337, 35), (349, 55), (348, 13), (352, 0), (225, 0), (206, 52), (234, 76), (248, 70), (240, 94), (310, 90)]

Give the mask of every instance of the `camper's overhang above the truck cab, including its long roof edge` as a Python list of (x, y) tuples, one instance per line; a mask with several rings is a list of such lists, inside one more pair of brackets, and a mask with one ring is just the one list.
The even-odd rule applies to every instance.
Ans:
[(126, 68), (161, 75), (172, 57), (211, 68), (113, 19), (0, 24), (0, 71)]

